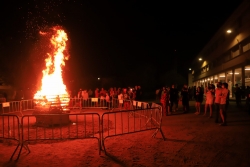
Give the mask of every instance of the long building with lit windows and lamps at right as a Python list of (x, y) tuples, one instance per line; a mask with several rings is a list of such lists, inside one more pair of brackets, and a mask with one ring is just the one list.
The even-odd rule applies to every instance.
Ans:
[(227, 82), (250, 86), (250, 1), (245, 0), (214, 34), (192, 63), (193, 86)]

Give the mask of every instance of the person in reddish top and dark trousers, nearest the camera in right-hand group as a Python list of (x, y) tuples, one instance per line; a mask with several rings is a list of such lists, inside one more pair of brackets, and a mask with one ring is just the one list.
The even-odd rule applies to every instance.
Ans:
[(226, 126), (227, 125), (227, 113), (226, 113), (226, 103), (227, 103), (227, 98), (228, 98), (228, 84), (223, 83), (221, 85), (221, 100), (220, 100), (220, 116), (222, 123), (220, 124), (221, 126)]

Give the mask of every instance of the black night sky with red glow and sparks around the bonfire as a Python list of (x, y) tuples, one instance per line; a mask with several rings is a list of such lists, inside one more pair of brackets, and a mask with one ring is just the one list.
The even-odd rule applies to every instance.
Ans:
[(176, 68), (185, 75), (242, 0), (170, 2), (8, 1), (0, 7), (1, 74), (40, 75), (44, 57), (38, 32), (60, 25), (70, 39), (64, 71), (69, 80), (125, 76), (144, 68), (155, 75)]

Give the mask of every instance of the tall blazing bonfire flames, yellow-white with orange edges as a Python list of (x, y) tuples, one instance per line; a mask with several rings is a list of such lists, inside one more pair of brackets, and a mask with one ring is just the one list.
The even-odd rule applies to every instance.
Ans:
[[(45, 35), (44, 32), (40, 32), (40, 34)], [(34, 95), (34, 99), (43, 104), (55, 101), (60, 101), (64, 104), (65, 102), (69, 102), (69, 94), (62, 78), (62, 67), (65, 66), (64, 60), (68, 59), (63, 54), (67, 46), (67, 41), (68, 37), (65, 31), (54, 27), (53, 35), (50, 38), (53, 51), (47, 53), (48, 57), (45, 59), (46, 69), (42, 71), (41, 88)]]

